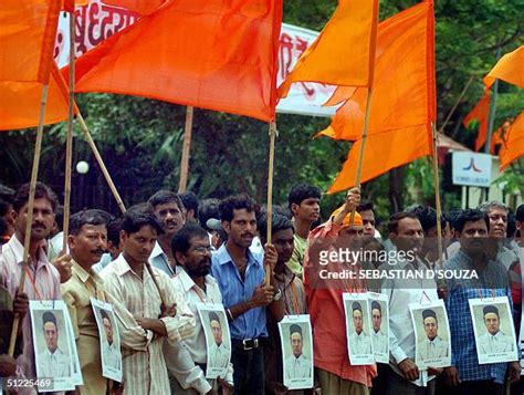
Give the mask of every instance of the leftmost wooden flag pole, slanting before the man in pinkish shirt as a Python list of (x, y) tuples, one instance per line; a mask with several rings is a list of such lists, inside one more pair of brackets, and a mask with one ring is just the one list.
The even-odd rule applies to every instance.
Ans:
[[(45, 105), (48, 104), (48, 91), (49, 84), (44, 84), (42, 87), (42, 96), (40, 101), (40, 115), (39, 115), (39, 127), (36, 129), (36, 143), (34, 145), (34, 157), (33, 168), (31, 170), (31, 183), (29, 184), (29, 201), (28, 201), (28, 215), (25, 218), (25, 235), (23, 240), (23, 260), (22, 270), (20, 274), (20, 282), (18, 284), (18, 292), (23, 292), (25, 285), (25, 267), (29, 264), (29, 245), (31, 243), (31, 228), (33, 225), (33, 208), (34, 208), (34, 191), (36, 190), (36, 178), (39, 176), (39, 164), (40, 154), (42, 153), (42, 137), (43, 137), (43, 124), (45, 116)], [(17, 343), (18, 328), (20, 325), (20, 315), (15, 314), (13, 320), (13, 328), (11, 330), (11, 337), (9, 340), (8, 353), (10, 356), (14, 355), (14, 345)]]

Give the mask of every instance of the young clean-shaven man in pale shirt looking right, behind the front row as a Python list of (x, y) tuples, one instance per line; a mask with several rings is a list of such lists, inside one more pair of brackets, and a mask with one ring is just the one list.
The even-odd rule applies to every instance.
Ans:
[(295, 226), (295, 243), (293, 256), (287, 261), (287, 267), (302, 279), (304, 252), (307, 247), (307, 237), (313, 222), (321, 217), (321, 189), (307, 184), (293, 186), (287, 196), (290, 211)]

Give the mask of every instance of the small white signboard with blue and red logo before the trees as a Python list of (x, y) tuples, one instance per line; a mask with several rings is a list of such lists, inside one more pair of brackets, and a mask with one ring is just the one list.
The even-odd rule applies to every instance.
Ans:
[(470, 187), (489, 187), (491, 185), (491, 155), (465, 152), (455, 152), (452, 155), (454, 185)]

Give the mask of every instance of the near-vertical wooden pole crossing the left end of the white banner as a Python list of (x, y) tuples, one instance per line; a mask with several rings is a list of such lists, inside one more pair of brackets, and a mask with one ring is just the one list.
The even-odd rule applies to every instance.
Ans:
[(67, 107), (67, 136), (65, 138), (65, 186), (64, 186), (64, 224), (62, 252), (67, 251), (71, 211), (71, 173), (73, 163), (73, 122), (74, 122), (74, 56), (75, 56), (75, 15), (70, 13), (70, 101)]

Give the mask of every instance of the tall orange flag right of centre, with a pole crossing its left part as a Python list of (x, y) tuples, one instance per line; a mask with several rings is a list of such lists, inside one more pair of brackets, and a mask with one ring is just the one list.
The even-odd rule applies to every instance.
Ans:
[[(373, 105), (361, 181), (432, 153), (436, 119), (434, 20), (422, 2), (378, 27)], [(366, 111), (366, 89), (339, 87), (350, 96), (322, 134), (357, 141), (329, 193), (355, 185)], [(338, 97), (344, 94), (338, 92)]]

